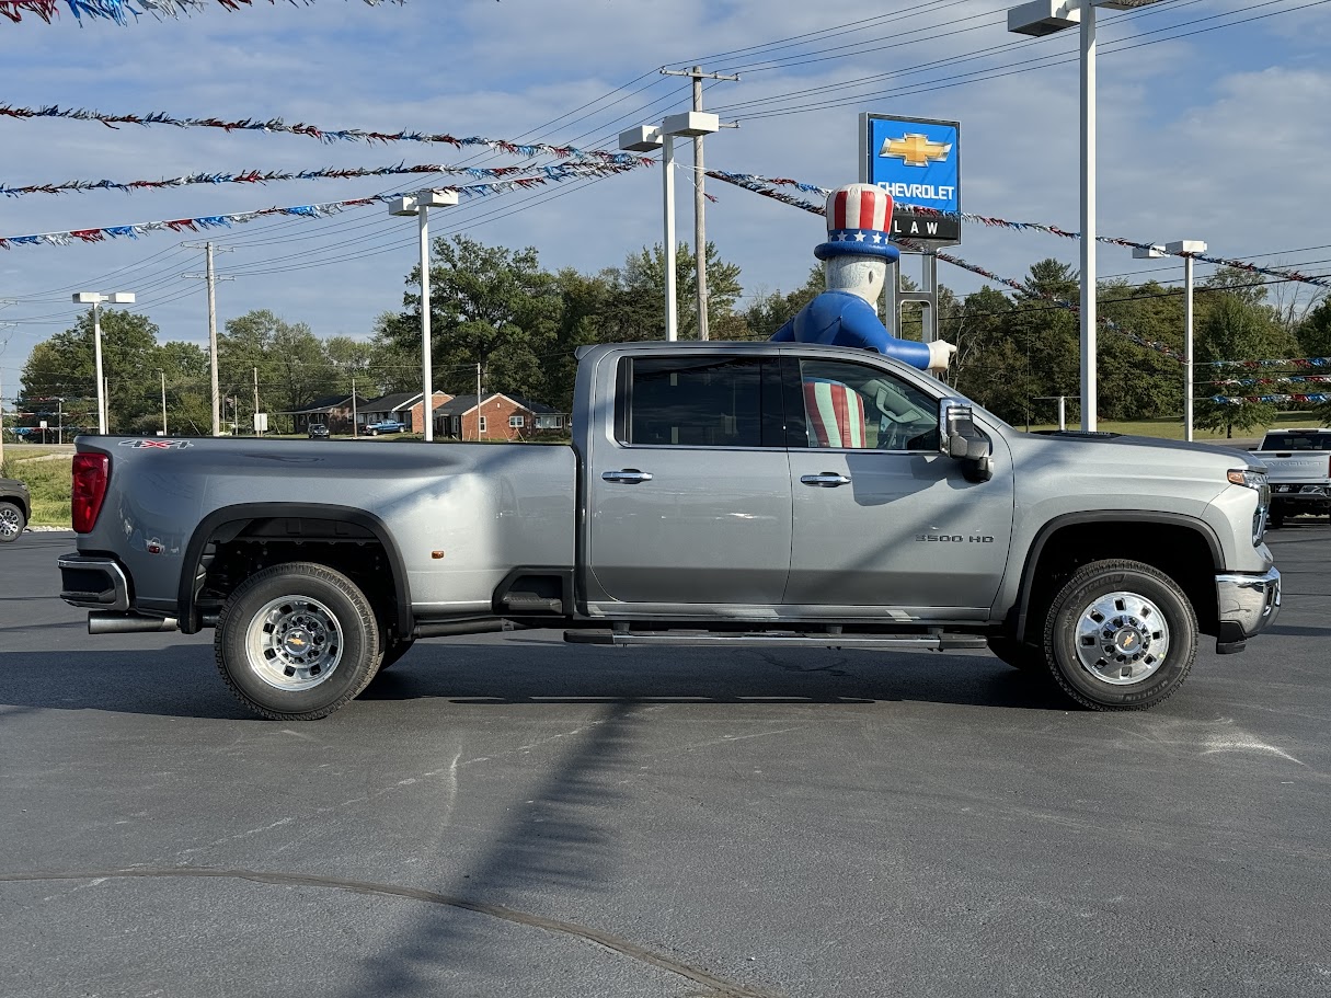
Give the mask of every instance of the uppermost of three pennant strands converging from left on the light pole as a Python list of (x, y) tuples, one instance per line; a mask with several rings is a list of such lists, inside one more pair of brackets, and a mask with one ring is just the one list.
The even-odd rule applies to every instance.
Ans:
[[(3, 0), (0, 0), (3, 3)], [(604, 149), (578, 149), (572, 145), (550, 145), (548, 142), (514, 142), (506, 138), (482, 138), (469, 136), (458, 138), (447, 133), (426, 132), (366, 132), (359, 128), (319, 128), (318, 125), (295, 124), (287, 125), (282, 118), (269, 118), (257, 121), (254, 118), (240, 118), (225, 121), (222, 118), (178, 118), (170, 114), (153, 112), (150, 114), (104, 114), (100, 110), (83, 110), (77, 108), (16, 108), (11, 104), (0, 104), (0, 117), (11, 117), (19, 121), (32, 118), (68, 118), (71, 121), (100, 121), (102, 125), (114, 128), (117, 125), (174, 125), (176, 128), (220, 128), (224, 132), (273, 132), (291, 136), (309, 136), (321, 142), (437, 142), (451, 145), (455, 149), (484, 148), (492, 153), (506, 156), (556, 156), (560, 160), (600, 160), (602, 162), (630, 162), (638, 157), (628, 153), (614, 153)]]

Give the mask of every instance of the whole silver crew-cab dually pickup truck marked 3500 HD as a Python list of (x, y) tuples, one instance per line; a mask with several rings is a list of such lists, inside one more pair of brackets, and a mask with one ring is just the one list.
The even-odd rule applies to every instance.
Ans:
[(1145, 709), (1202, 635), (1276, 616), (1240, 451), (1013, 430), (877, 354), (579, 354), (571, 446), (81, 436), (61, 596), (93, 633), (214, 628), (232, 692), (303, 720), (417, 639), (988, 647)]

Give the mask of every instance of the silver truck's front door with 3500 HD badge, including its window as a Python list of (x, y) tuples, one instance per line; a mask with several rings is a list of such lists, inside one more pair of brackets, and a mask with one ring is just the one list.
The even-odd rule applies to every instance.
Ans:
[(795, 522), (783, 601), (811, 613), (984, 619), (1012, 538), (1002, 440), (993, 478), (968, 482), (938, 452), (937, 397), (885, 366), (784, 363)]

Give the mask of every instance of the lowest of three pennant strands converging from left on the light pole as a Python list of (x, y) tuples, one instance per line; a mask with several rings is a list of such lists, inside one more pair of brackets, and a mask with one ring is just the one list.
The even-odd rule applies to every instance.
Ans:
[(587, 180), (591, 177), (610, 177), (618, 173), (627, 173), (634, 169), (628, 164), (582, 164), (578, 169), (544, 170), (531, 177), (516, 177), (514, 180), (494, 181), (491, 184), (473, 184), (465, 188), (426, 188), (398, 194), (373, 194), (350, 201), (330, 201), (319, 205), (294, 205), (290, 208), (265, 208), (258, 212), (240, 212), (236, 214), (201, 216), (197, 218), (176, 218), (161, 222), (137, 222), (133, 225), (110, 225), (100, 229), (71, 229), (67, 232), (48, 232), (36, 236), (0, 236), (0, 249), (15, 246), (68, 246), (75, 242), (104, 242), (128, 237), (137, 240), (152, 232), (202, 232), (205, 229), (229, 229), (232, 225), (252, 222), (256, 218), (272, 216), (291, 216), (297, 218), (327, 218), (341, 214), (350, 208), (363, 205), (387, 204), (394, 198), (423, 194), (430, 190), (455, 190), (461, 197), (488, 197), (512, 190), (527, 190), (544, 184), (562, 182), (566, 180)]

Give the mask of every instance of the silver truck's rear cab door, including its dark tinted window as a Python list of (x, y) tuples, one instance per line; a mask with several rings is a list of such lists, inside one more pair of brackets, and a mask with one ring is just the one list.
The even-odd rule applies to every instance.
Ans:
[(594, 612), (781, 601), (791, 468), (779, 365), (717, 351), (618, 361), (614, 420), (592, 434), (584, 486)]

